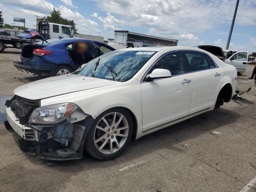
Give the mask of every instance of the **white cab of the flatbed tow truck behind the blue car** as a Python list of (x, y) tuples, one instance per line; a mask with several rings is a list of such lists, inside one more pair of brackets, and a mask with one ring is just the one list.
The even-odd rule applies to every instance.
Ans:
[(38, 22), (38, 32), (47, 40), (61, 37), (73, 37), (74, 30), (69, 25), (50, 23), (48, 21)]

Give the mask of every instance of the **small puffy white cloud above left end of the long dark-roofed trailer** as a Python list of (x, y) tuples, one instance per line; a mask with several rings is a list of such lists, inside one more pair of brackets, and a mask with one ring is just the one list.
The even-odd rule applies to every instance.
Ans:
[[(94, 13), (94, 16), (96, 15), (98, 16), (98, 14)], [(117, 26), (123, 24), (121, 20), (116, 19), (110, 13), (107, 13), (107, 16), (104, 18), (98, 16), (98, 20), (102, 22), (104, 30), (121, 30)]]

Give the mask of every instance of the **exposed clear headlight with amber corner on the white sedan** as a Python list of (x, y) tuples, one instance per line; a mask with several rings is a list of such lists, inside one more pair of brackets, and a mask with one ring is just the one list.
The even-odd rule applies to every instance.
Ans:
[(78, 106), (70, 103), (49, 105), (36, 108), (28, 122), (36, 124), (56, 124), (70, 116)]

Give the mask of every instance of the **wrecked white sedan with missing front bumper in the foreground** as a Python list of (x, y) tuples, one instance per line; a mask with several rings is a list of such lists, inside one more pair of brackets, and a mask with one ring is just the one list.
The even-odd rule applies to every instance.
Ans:
[(6, 128), (22, 150), (52, 160), (109, 160), (129, 142), (219, 108), (236, 90), (236, 68), (202, 49), (126, 48), (72, 74), (20, 86)]

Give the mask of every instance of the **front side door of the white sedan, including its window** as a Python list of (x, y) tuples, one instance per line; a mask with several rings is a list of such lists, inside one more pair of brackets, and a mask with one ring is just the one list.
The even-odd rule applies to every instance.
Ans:
[(156, 68), (170, 70), (172, 77), (141, 83), (143, 131), (189, 114), (192, 84), (181, 52), (162, 56), (148, 74)]

